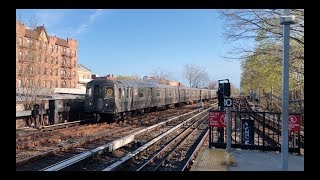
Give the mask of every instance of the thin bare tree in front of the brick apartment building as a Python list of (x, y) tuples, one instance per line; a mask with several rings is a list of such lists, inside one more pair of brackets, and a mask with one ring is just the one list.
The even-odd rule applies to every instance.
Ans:
[(51, 95), (52, 81), (44, 76), (57, 72), (52, 68), (56, 60), (51, 56), (53, 50), (48, 51), (43, 27), (37, 27), (35, 18), (30, 19), (29, 24), (30, 27), (25, 30), (27, 37), (21, 37), (19, 32), (25, 26), (21, 18), (16, 20), (16, 95), (25, 110), (42, 104), (43, 99)]

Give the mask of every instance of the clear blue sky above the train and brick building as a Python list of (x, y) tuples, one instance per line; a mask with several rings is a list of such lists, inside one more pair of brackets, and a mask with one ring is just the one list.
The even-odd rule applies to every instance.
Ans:
[(26, 25), (34, 18), (49, 35), (78, 40), (78, 63), (100, 76), (150, 75), (157, 68), (188, 85), (185, 64), (203, 67), (211, 80), (240, 87), (240, 62), (222, 56), (230, 45), (214, 9), (16, 10)]

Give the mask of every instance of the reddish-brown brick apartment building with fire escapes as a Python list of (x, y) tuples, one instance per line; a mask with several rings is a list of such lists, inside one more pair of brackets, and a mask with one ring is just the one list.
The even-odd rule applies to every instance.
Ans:
[(78, 41), (16, 21), (16, 87), (77, 88)]

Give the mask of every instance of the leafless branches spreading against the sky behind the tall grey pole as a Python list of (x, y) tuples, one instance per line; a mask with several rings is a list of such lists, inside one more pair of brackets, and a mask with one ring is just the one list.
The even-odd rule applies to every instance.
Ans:
[[(255, 56), (273, 55), (281, 63), (281, 9), (231, 9), (219, 10), (219, 13), (224, 20), (225, 39), (234, 44), (225, 58), (243, 60), (254, 53)], [(291, 14), (295, 16), (296, 23), (290, 26), (290, 70), (301, 74), (304, 72), (301, 67), (304, 60), (304, 9), (292, 9)], [(249, 40), (256, 41), (259, 48), (244, 47), (243, 41)]]

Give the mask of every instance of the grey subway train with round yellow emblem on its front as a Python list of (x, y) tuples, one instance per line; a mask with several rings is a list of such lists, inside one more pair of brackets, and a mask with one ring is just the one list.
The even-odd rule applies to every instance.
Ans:
[(84, 111), (97, 121), (125, 119), (154, 109), (216, 98), (212, 89), (169, 86), (151, 81), (94, 79), (86, 85)]

